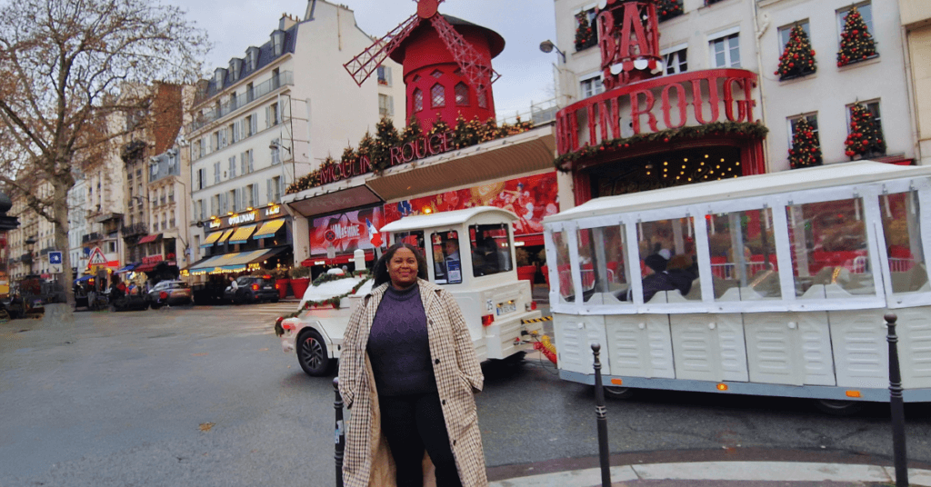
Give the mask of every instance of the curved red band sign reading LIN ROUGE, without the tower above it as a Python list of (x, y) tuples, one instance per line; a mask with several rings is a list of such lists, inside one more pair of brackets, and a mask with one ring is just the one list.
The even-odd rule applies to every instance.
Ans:
[(712, 69), (605, 91), (556, 115), (558, 151), (561, 155), (611, 139), (725, 119), (753, 122), (756, 101), (751, 93), (756, 81), (756, 74), (746, 70)]

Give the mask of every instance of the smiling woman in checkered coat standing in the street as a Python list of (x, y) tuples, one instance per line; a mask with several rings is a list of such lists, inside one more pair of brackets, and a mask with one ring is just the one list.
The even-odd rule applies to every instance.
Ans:
[(452, 294), (426, 278), (420, 250), (395, 244), (349, 318), (339, 360), (351, 412), (346, 487), (488, 485), (473, 397), (484, 384), (479, 359)]

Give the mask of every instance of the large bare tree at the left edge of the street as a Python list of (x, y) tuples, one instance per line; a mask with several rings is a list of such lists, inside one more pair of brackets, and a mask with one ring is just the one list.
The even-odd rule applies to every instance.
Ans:
[[(58, 249), (75, 169), (128, 133), (108, 120), (147, 110), (154, 82), (195, 82), (208, 48), (182, 10), (151, 0), (0, 0), (0, 182), (55, 223)], [(50, 197), (32, 191), (42, 181)], [(74, 304), (70, 252), (62, 260)]]

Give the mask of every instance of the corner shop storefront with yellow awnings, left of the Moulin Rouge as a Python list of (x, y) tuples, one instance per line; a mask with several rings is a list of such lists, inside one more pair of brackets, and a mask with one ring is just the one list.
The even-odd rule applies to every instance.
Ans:
[(290, 267), (290, 216), (280, 205), (230, 214), (207, 223), (200, 245), (205, 257), (182, 270), (182, 276), (240, 274)]

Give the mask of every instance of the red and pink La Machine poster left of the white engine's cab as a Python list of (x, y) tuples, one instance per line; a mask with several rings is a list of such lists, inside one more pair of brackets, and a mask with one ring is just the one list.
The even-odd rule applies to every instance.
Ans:
[(356, 249), (371, 250), (375, 245), (381, 246), (380, 236), (374, 233), (374, 229), (385, 225), (385, 216), (382, 209), (376, 207), (315, 218), (313, 224), (310, 229), (311, 255), (333, 258)]

